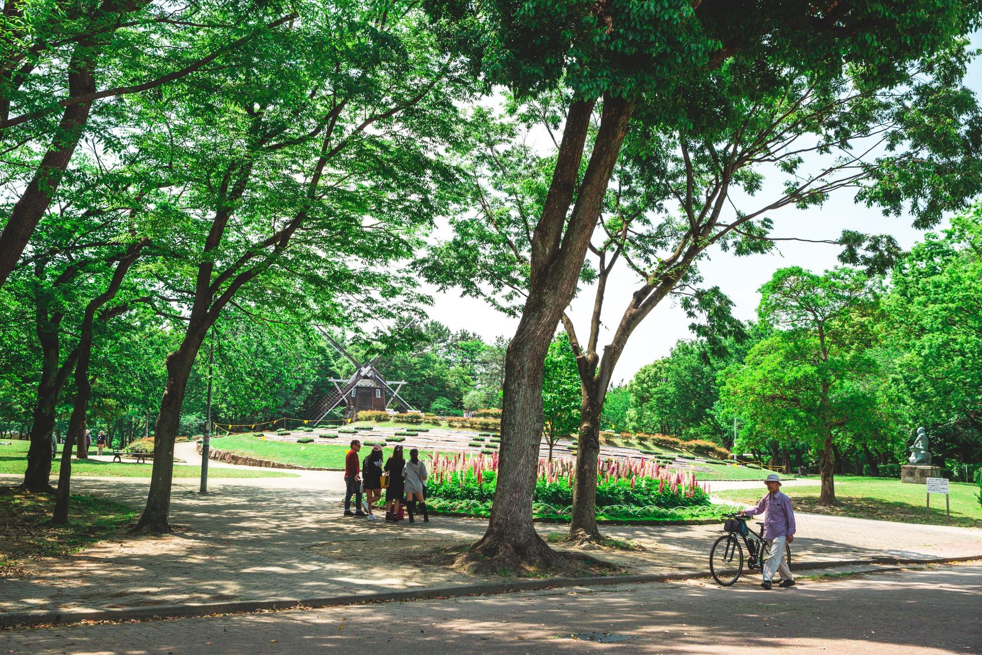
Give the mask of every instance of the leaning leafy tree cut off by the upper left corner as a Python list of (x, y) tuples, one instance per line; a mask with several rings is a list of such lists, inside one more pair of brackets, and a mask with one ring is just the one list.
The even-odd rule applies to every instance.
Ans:
[(263, 30), (296, 18), (276, 4), (5, 3), (0, 137), (7, 155), (0, 179), (17, 191), (0, 231), (0, 286), (55, 198), (90, 124), (109, 140), (114, 129), (135, 127), (119, 124), (118, 109), (98, 101), (201, 73)]

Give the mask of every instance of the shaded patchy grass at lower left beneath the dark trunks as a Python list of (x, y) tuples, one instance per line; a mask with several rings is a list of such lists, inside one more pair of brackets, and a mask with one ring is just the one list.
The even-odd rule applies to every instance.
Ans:
[[(133, 508), (93, 496), (69, 499), (69, 524), (52, 525), (54, 494), (0, 488), (0, 578), (27, 557), (74, 553), (118, 532), (136, 519)], [(16, 573), (12, 572), (12, 573)]]

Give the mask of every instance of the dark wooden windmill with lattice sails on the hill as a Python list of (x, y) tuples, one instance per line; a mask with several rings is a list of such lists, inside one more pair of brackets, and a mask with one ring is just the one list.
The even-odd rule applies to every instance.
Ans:
[[(385, 410), (395, 402), (400, 409), (406, 411), (412, 409), (409, 403), (399, 395), (399, 390), (406, 384), (406, 380), (387, 381), (375, 367), (382, 355), (377, 355), (373, 359), (364, 363), (358, 363), (357, 359), (339, 344), (326, 330), (317, 326), (321, 336), (334, 347), (342, 356), (355, 365), (355, 374), (348, 379), (331, 378), (334, 383), (335, 392), (325, 397), (308, 413), (311, 420), (320, 420), (327, 413), (340, 404), (345, 404), (345, 418), (354, 419), (358, 411), (366, 409)], [(393, 388), (395, 385), (395, 388)]]

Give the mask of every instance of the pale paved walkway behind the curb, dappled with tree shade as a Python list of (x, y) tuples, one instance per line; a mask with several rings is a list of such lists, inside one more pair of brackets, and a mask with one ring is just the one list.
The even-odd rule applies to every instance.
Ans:
[[(19, 476), (0, 476), (14, 483)], [(0, 612), (102, 609), (183, 602), (313, 598), (393, 588), (465, 584), (481, 578), (427, 564), (448, 546), (472, 543), (477, 519), (436, 517), (392, 524), (341, 517), (340, 472), (298, 478), (219, 478), (211, 493), (197, 480), (174, 481), (173, 534), (121, 535), (71, 561), (33, 561), (27, 576), (0, 583)], [(144, 478), (78, 478), (73, 491), (137, 507)], [(560, 525), (540, 524), (543, 533)], [(644, 551), (594, 553), (627, 573), (705, 571), (717, 525), (606, 526)], [(838, 562), (879, 556), (982, 557), (982, 530), (799, 515), (794, 562)]]

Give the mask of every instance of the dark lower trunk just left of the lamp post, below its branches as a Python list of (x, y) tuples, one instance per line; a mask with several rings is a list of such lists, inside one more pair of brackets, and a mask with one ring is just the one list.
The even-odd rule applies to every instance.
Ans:
[(171, 513), (171, 484), (174, 476), (174, 440), (181, 423), (181, 406), (188, 389), (194, 357), (204, 340), (200, 329), (189, 329), (181, 348), (167, 356), (167, 385), (154, 425), (153, 470), (150, 491), (136, 530), (167, 532)]

